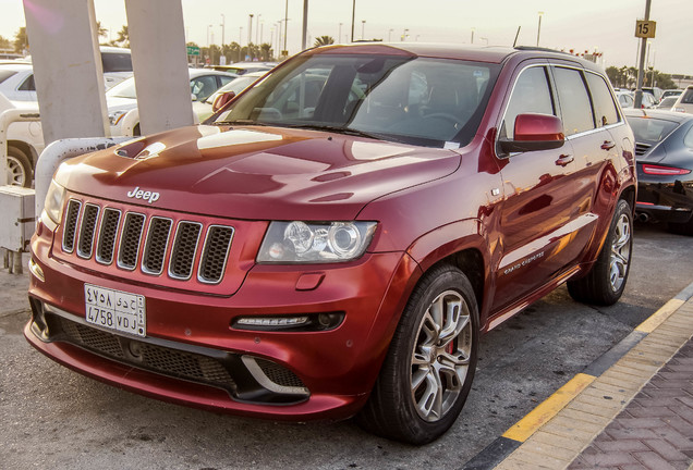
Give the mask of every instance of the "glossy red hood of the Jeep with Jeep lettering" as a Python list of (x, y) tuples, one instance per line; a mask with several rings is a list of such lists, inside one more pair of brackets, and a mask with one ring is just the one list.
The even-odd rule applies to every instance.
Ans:
[[(74, 193), (248, 220), (351, 220), (369, 201), (451, 174), (460, 154), (281, 127), (192, 126), (64, 163)], [(154, 196), (156, 195), (156, 196)]]

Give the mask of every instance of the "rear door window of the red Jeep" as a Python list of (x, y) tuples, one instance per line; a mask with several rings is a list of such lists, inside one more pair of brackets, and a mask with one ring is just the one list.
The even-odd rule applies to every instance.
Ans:
[(563, 114), (566, 135), (573, 135), (594, 128), (594, 116), (589, 96), (582, 73), (574, 69), (555, 67), (558, 100)]

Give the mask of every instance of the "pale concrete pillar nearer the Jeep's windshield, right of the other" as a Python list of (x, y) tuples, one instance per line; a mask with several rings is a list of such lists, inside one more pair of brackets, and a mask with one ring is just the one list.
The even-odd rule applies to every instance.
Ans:
[(142, 134), (192, 125), (181, 0), (125, 0), (125, 10)]

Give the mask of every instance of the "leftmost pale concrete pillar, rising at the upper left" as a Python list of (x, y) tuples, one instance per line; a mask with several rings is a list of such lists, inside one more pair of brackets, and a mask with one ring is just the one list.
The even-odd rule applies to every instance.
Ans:
[(108, 135), (93, 0), (24, 0), (46, 145)]

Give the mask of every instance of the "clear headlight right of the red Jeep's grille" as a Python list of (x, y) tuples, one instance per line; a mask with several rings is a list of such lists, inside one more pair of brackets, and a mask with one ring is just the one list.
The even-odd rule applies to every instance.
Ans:
[(342, 262), (361, 257), (375, 222), (271, 222), (257, 262)]

